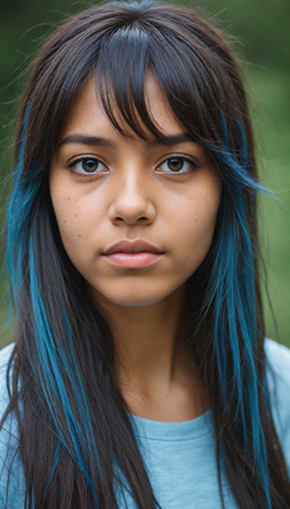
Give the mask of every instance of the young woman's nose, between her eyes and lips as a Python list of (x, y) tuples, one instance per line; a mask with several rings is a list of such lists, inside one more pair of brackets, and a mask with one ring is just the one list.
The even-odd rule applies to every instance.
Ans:
[(114, 224), (122, 222), (151, 224), (155, 220), (156, 210), (152, 203), (150, 189), (142, 176), (138, 175), (138, 171), (134, 171), (133, 168), (122, 176), (122, 184), (117, 186), (108, 216)]

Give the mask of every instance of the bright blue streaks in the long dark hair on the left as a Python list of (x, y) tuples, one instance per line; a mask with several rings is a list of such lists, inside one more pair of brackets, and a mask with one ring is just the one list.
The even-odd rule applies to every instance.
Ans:
[[(41, 177), (38, 168), (31, 171), (29, 170), (28, 172), (24, 171), (25, 135), (29, 109), (30, 104), (27, 106), (23, 122), (18, 163), (13, 174), (13, 189), (8, 203), (6, 264), (11, 282), (12, 298), (15, 304), (16, 315), (18, 308), (18, 292), (25, 281), (28, 281), (29, 284), (35, 324), (35, 340), (39, 359), (37, 373), (32, 358), (31, 367), (34, 370), (35, 379), (38, 380), (40, 384), (41, 391), (38, 394), (39, 398), (40, 400), (45, 398), (45, 402), (43, 403), (45, 403), (46, 408), (49, 409), (50, 418), (57, 437), (54, 464), (44, 492), (53, 477), (59, 459), (60, 444), (62, 444), (83, 473), (88, 489), (93, 496), (95, 506), (98, 507), (98, 494), (95, 491), (93, 483), (93, 477), (98, 476), (101, 479), (98, 450), (92, 431), (92, 417), (79, 373), (68, 312), (65, 308), (59, 309), (63, 325), (62, 333), (63, 331), (66, 332), (66, 340), (70, 345), (70, 357), (66, 355), (65, 349), (63, 348), (63, 335), (62, 337), (60, 335), (55, 336), (52, 333), (49, 313), (42, 299), (39, 276), (36, 268), (35, 238), (38, 211), (35, 211), (32, 221), (30, 221), (30, 218), (33, 207), (38, 207), (36, 197)], [(23, 273), (22, 269), (24, 256), (27, 256), (29, 260), (26, 273)], [(76, 407), (75, 411), (79, 417), (78, 420), (72, 408), (72, 402), (70, 401), (63, 373), (66, 373), (67, 381), (69, 381), (70, 388), (73, 391)], [(65, 413), (67, 433), (64, 433), (64, 428), (62, 422), (59, 420), (55, 402), (61, 405)], [(87, 458), (95, 460), (92, 465), (93, 471), (91, 471), (90, 465), (84, 458), (84, 450), (87, 453)]]

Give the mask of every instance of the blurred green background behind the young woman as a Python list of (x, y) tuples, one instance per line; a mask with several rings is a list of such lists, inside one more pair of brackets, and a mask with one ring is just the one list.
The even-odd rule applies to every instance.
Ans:
[[(186, 0), (182, 2), (186, 4)], [(1, 207), (5, 208), (11, 171), (13, 120), (21, 91), (21, 72), (41, 38), (67, 14), (88, 3), (72, 0), (0, 0), (0, 161)], [(187, 2), (188, 5), (188, 2)], [(219, 20), (240, 41), (262, 181), (279, 191), (280, 205), (260, 200), (261, 241), (266, 282), (274, 317), (265, 301), (267, 334), (290, 347), (290, 2), (289, 0), (199, 0), (191, 3)], [(0, 217), (4, 217), (4, 213)], [(3, 257), (3, 249), (1, 250)], [(0, 287), (0, 327), (8, 320), (5, 279)], [(1, 332), (2, 344), (8, 329)]]

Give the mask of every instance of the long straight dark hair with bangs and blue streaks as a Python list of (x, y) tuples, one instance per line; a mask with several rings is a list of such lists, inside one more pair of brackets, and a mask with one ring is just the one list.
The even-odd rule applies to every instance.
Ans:
[[(43, 47), (23, 97), (7, 219), (17, 330), (2, 425), (15, 415), (25, 504), (114, 509), (116, 493), (130, 492), (138, 509), (158, 506), (118, 385), (110, 327), (63, 248), (48, 185), (61, 130), (91, 77), (121, 134), (127, 125), (162, 139), (146, 108), (148, 70), (223, 184), (213, 244), (187, 285), (219, 479), (224, 469), (240, 509), (286, 509), (290, 486), (265, 382), (261, 187), (242, 80), (218, 29), (192, 10), (149, 0), (72, 17)], [(220, 491), (222, 500), (221, 481)]]

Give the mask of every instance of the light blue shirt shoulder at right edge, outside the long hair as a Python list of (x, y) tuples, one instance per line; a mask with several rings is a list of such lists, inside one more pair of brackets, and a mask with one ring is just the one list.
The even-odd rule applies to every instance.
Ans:
[(274, 424), (290, 468), (290, 350), (266, 339), (265, 353)]

